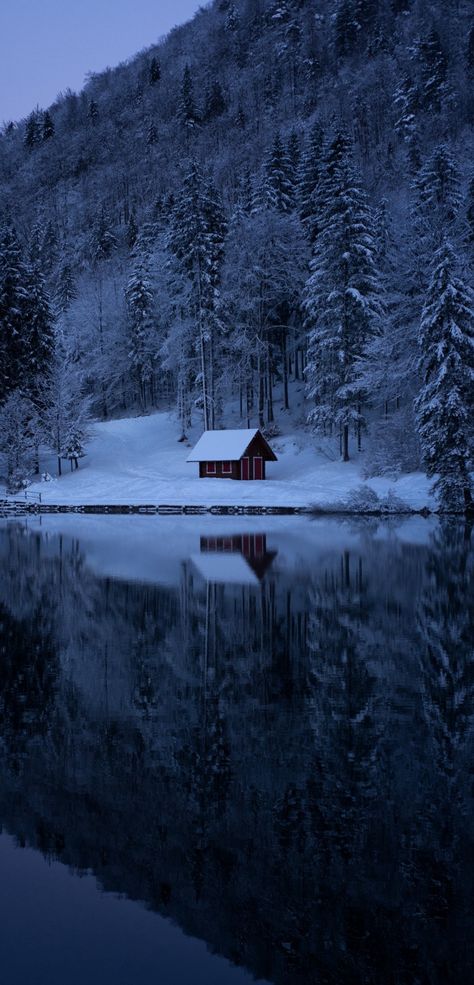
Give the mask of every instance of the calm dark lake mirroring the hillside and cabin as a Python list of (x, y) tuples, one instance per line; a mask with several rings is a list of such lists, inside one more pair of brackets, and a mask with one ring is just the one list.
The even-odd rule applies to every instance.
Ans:
[(0, 526), (2, 985), (474, 981), (473, 540)]

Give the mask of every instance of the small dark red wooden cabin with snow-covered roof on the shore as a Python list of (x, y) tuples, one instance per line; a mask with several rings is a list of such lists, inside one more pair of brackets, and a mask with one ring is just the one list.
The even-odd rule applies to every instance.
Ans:
[(277, 457), (258, 428), (205, 431), (187, 458), (199, 462), (201, 479), (264, 479)]

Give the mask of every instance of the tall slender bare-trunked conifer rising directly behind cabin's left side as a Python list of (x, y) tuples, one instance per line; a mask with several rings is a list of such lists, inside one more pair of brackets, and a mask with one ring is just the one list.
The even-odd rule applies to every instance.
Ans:
[(219, 196), (193, 162), (173, 210), (169, 246), (192, 284), (190, 314), (199, 351), (206, 430), (214, 427), (216, 417), (219, 281), (225, 233)]

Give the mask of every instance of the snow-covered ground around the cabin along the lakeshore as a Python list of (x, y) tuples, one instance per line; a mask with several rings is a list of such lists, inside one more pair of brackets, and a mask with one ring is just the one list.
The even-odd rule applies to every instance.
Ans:
[[(191, 434), (188, 444), (178, 442), (176, 421), (167, 413), (97, 423), (79, 470), (69, 473), (66, 462), (62, 478), (33, 484), (30, 491), (58, 505), (330, 506), (365, 483), (381, 497), (392, 491), (413, 509), (434, 506), (422, 473), (364, 480), (360, 462), (331, 460), (304, 432), (271, 442), (278, 462), (267, 464), (265, 482), (199, 479), (198, 466), (186, 462), (199, 433)], [(55, 474), (54, 459), (43, 460), (41, 467)]]

